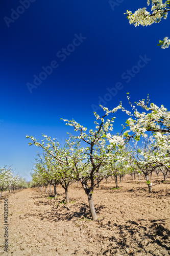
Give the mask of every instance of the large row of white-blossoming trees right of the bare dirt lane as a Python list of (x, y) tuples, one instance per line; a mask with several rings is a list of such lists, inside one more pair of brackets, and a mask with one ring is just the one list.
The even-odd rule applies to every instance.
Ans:
[[(128, 99), (130, 102), (129, 95)], [(43, 154), (38, 154), (32, 174), (34, 185), (47, 187), (52, 184), (56, 195), (56, 186), (61, 184), (68, 203), (68, 186), (73, 181), (80, 181), (88, 197), (93, 220), (97, 217), (92, 194), (104, 178), (136, 172), (144, 175), (152, 192), (149, 174), (161, 168), (166, 180), (169, 173), (170, 113), (163, 105), (160, 108), (154, 103), (149, 105), (149, 98), (146, 103), (142, 100), (136, 106), (131, 102), (130, 105), (132, 113), (124, 109), (122, 103), (111, 111), (102, 106), (105, 112), (102, 117), (94, 112), (94, 130), (87, 131), (75, 120), (64, 119), (66, 125), (74, 127), (76, 133), (69, 135), (63, 147), (56, 139), (46, 135), (43, 135), (41, 142), (27, 135), (32, 140), (29, 145), (34, 144), (43, 150)], [(140, 113), (138, 106), (146, 112)], [(130, 117), (123, 125), (123, 131), (113, 134), (115, 117), (107, 117), (120, 110)]]

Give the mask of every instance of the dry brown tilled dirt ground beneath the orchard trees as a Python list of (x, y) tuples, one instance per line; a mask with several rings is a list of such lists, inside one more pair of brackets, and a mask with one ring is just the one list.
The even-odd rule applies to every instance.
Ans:
[[(162, 177), (153, 179), (161, 180)], [(0, 255), (170, 255), (170, 182), (148, 193), (142, 179), (126, 176), (115, 187), (114, 180), (102, 182), (93, 193), (98, 215), (92, 221), (87, 196), (75, 183), (69, 187), (70, 203), (64, 190), (58, 198), (36, 188), (13, 193), (0, 200)], [(4, 198), (8, 198), (8, 253), (4, 251)]]

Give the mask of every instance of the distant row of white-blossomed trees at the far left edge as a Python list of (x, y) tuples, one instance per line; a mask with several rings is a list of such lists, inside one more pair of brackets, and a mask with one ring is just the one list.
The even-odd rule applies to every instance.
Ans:
[[(19, 175), (13, 175), (11, 167), (0, 167), (0, 191), (2, 197), (2, 193), (5, 190), (15, 191), (21, 188), (27, 188), (28, 184), (24, 178), (21, 178)], [(6, 192), (5, 192), (6, 193)]]

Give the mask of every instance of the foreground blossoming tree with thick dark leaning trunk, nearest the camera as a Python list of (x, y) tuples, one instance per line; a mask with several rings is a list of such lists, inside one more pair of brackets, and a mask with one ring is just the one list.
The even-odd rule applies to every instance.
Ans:
[[(105, 111), (105, 115), (103, 117), (100, 117), (94, 112), (94, 116), (96, 118), (96, 121), (94, 122), (95, 130), (93, 131), (90, 129), (89, 132), (86, 132), (87, 128), (80, 125), (75, 120), (64, 119), (64, 121), (66, 121), (66, 125), (73, 126), (75, 131), (79, 133), (78, 136), (72, 135), (72, 138), (78, 140), (80, 143), (83, 142), (86, 144), (83, 154), (86, 156), (88, 166), (82, 170), (79, 177), (88, 197), (88, 203), (93, 220), (96, 220), (97, 216), (94, 209), (92, 194), (94, 187), (99, 184), (95, 178), (98, 176), (100, 168), (107, 164), (111, 155), (115, 154), (119, 150), (119, 147), (124, 144), (123, 136), (118, 134), (111, 136), (109, 133), (109, 131), (113, 130), (114, 118), (105, 120), (105, 117), (110, 113), (115, 113), (120, 108), (122, 108), (121, 104), (112, 111), (109, 111), (107, 108), (103, 108)], [(107, 140), (109, 140), (110, 144)], [(90, 184), (87, 183), (87, 180), (90, 180)]]

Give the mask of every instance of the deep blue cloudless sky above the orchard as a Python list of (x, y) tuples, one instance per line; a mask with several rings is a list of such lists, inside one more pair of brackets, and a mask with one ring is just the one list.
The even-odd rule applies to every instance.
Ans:
[[(120, 2), (1, 1), (0, 166), (30, 180), (37, 148), (27, 134), (63, 143), (71, 129), (60, 118), (91, 127), (99, 104), (129, 108), (127, 92), (132, 101), (149, 93), (169, 109), (169, 49), (157, 46), (169, 36), (169, 17), (135, 28), (124, 12), (147, 0)], [(124, 118), (117, 116), (115, 131)]]

